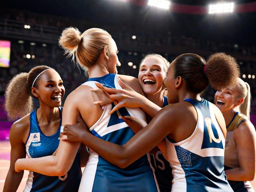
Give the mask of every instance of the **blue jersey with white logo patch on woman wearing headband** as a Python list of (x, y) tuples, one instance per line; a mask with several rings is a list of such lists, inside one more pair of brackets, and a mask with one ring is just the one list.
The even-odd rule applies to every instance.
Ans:
[[(62, 107), (59, 107), (62, 114)], [(36, 110), (30, 113), (30, 130), (26, 142), (29, 158), (52, 155), (59, 144), (61, 122), (58, 131), (52, 136), (42, 133), (36, 118)], [(62, 116), (61, 116), (62, 119)], [(74, 163), (65, 176), (45, 176), (36, 172), (29, 172), (24, 192), (77, 192), (81, 181), (80, 154), (76, 155)]]

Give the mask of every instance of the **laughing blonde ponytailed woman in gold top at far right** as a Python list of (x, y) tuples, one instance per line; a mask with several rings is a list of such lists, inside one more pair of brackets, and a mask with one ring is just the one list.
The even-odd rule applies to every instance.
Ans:
[(256, 133), (250, 122), (250, 86), (241, 78), (215, 94), (215, 103), (222, 112), (227, 138), (225, 145), (225, 174), (235, 192), (254, 191), (249, 181), (254, 179)]

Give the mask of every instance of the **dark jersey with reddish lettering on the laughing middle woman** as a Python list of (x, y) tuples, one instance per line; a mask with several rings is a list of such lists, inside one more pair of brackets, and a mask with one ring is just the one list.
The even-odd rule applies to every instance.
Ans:
[[(163, 97), (164, 105), (168, 105), (167, 97)], [(155, 177), (157, 178), (157, 183), (161, 192), (170, 192), (172, 187), (172, 168), (170, 163), (164, 158), (162, 152), (158, 147), (155, 147), (149, 152), (150, 162), (155, 170)]]

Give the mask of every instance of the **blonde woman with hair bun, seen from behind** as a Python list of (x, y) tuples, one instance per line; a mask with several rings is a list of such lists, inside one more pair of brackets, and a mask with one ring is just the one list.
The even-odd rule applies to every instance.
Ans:
[[(123, 107), (118, 113), (109, 115), (115, 104), (101, 106), (100, 103), (94, 103), (92, 92), (92, 89), (97, 87), (96, 83), (122, 89), (119, 85), (120, 79), (143, 95), (137, 78), (117, 74), (117, 65), (120, 65), (120, 62), (115, 40), (103, 29), (91, 28), (81, 33), (78, 29), (69, 27), (62, 32), (59, 45), (65, 50), (67, 57), (71, 57), (87, 71), (89, 78), (67, 96), (63, 107), (62, 125), (76, 124), (78, 115), (81, 114), (91, 134), (119, 145), (126, 143), (135, 133), (120, 116), (136, 116), (146, 121), (145, 113), (139, 108)], [(17, 171), (32, 170), (52, 176), (66, 174), (80, 144), (81, 142), (61, 140), (56, 156), (19, 159), (15, 168)], [(148, 154), (123, 169), (104, 160), (90, 147), (89, 152), (79, 192), (159, 191)]]

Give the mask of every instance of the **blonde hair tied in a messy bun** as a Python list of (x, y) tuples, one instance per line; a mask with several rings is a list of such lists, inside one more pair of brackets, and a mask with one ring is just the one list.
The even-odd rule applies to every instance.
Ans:
[[(59, 45), (65, 50), (67, 58), (72, 56), (72, 61), (85, 69), (95, 65), (104, 47), (110, 51), (111, 35), (104, 29), (91, 28), (81, 32), (75, 27), (63, 30), (59, 38)], [(77, 64), (76, 63), (76, 64)]]

